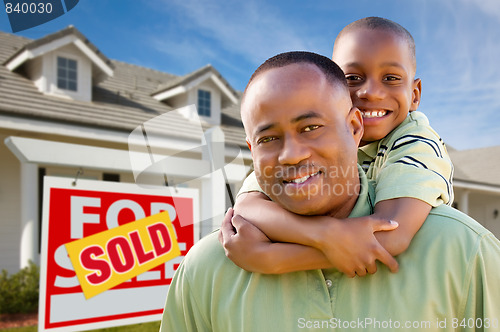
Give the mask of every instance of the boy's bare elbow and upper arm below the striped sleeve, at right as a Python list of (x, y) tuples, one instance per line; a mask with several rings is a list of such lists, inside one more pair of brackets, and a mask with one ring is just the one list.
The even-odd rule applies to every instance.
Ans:
[(432, 206), (416, 198), (401, 197), (378, 202), (374, 217), (396, 220), (399, 227), (392, 232), (377, 232), (375, 237), (393, 256), (405, 251), (423, 225)]

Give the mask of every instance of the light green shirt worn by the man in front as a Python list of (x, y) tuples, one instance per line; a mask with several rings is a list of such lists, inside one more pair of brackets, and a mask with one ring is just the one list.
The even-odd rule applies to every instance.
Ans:
[[(372, 212), (373, 186), (360, 179), (351, 217)], [(477, 222), (433, 208), (398, 262), (398, 273), (378, 264), (375, 274), (355, 278), (334, 269), (250, 273), (212, 233), (177, 270), (161, 331), (498, 330), (500, 242)]]

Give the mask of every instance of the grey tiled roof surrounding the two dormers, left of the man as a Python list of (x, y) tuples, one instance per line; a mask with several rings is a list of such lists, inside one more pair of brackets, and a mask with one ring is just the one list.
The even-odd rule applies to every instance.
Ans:
[[(0, 32), (0, 63), (5, 64), (23, 50), (60, 38), (61, 34), (78, 35), (80, 33), (70, 27), (33, 41)], [(82, 37), (83, 35), (80, 34), (79, 38)], [(107, 59), (95, 46), (88, 41), (87, 43), (96, 54)], [(188, 78), (190, 76), (179, 77), (116, 60), (107, 59), (106, 61), (114, 68), (113, 76), (106, 77), (102, 82), (93, 86), (92, 102), (45, 95), (38, 91), (35, 84), (24, 76), (22, 71), (12, 72), (5, 66), (0, 66), (0, 112), (19, 117), (131, 132), (149, 119), (172, 110), (172, 107), (151, 96), (154, 91), (157, 91), (160, 86), (171, 84), (173, 81), (179, 82), (186, 76)], [(201, 70), (207, 70), (207, 68), (215, 71), (211, 66)], [(238, 92), (234, 93), (239, 96)], [(221, 129), (225, 133), (226, 141), (246, 147), (239, 105), (234, 104), (223, 108), (221, 121)], [(182, 116), (165, 126), (163, 134), (167, 133), (174, 138), (197, 138), (193, 136), (193, 124)]]

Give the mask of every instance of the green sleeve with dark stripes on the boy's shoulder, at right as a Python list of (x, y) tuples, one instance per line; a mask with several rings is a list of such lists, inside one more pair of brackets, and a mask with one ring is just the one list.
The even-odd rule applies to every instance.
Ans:
[[(425, 115), (412, 112), (391, 134), (358, 153), (376, 182), (375, 204), (411, 197), (436, 207), (453, 202), (453, 164)], [(371, 158), (371, 159), (370, 159)], [(369, 166), (368, 166), (369, 165)]]

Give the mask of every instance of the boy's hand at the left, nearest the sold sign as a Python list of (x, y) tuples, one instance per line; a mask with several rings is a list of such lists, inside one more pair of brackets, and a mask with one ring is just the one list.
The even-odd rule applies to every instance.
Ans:
[(222, 221), (219, 242), (226, 256), (244, 270), (273, 273), (274, 262), (269, 261), (271, 240), (257, 227), (229, 209)]

